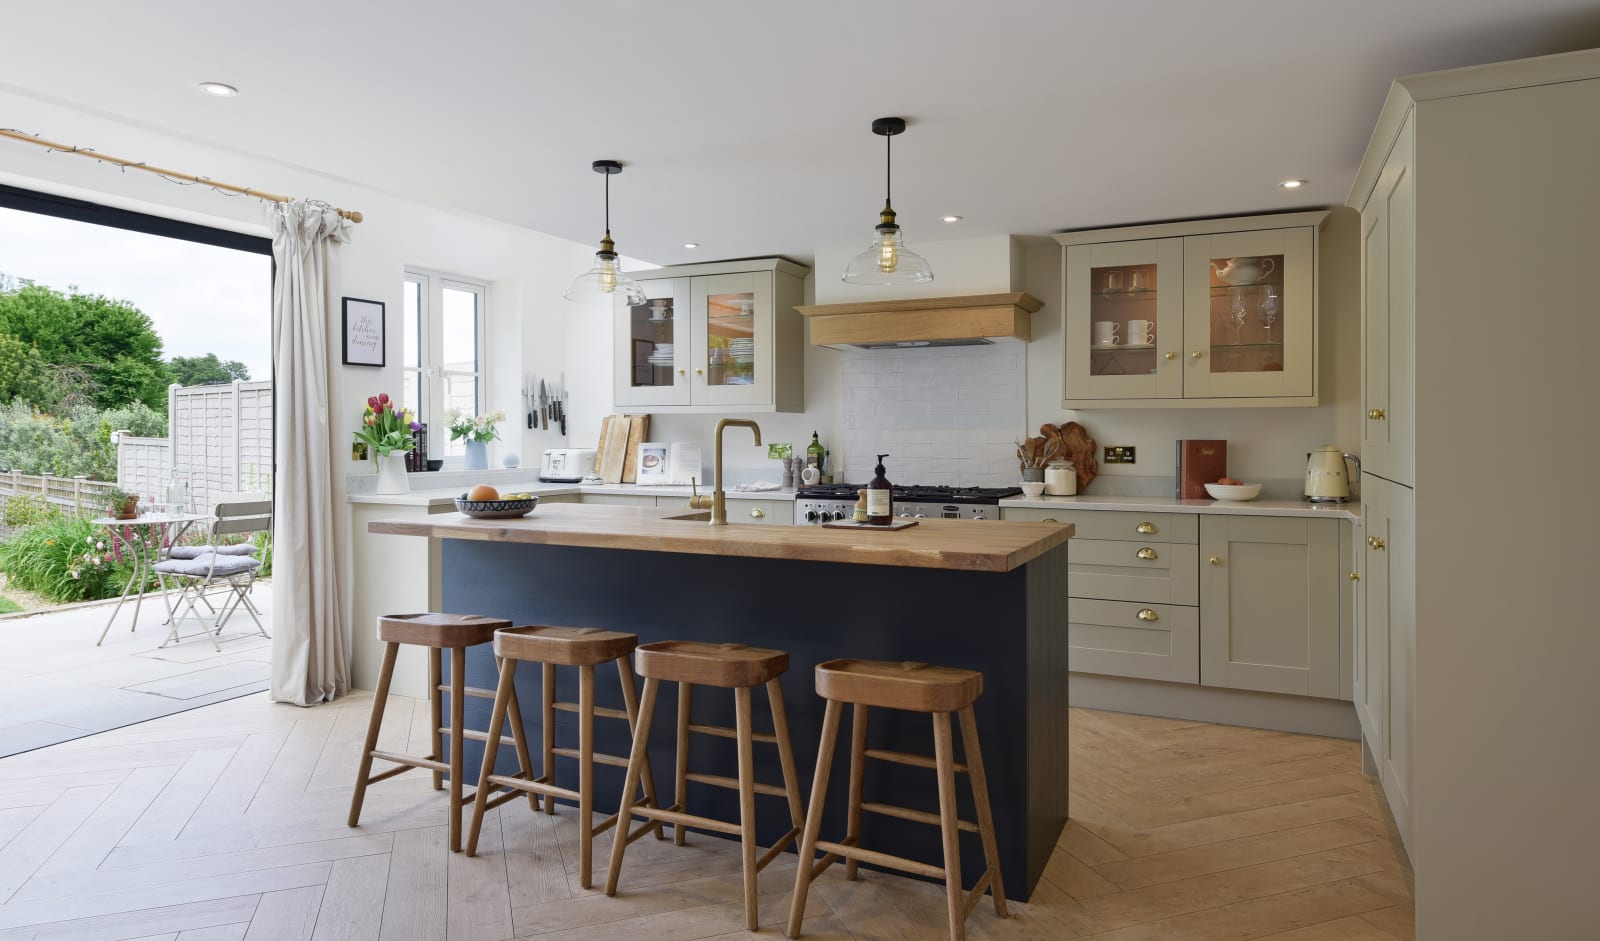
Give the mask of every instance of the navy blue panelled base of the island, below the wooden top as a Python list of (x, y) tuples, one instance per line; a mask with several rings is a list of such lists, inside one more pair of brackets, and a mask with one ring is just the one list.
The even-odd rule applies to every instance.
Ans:
[[(968, 523), (1005, 525), (1005, 523)], [(925, 661), (982, 671), (978, 728), (989, 799), (994, 805), (1006, 895), (1032, 895), (1067, 819), (1067, 544), (1010, 571), (966, 571), (896, 565), (854, 565), (750, 555), (709, 555), (624, 547), (555, 546), (515, 541), (443, 539), (442, 589), (446, 611), (509, 618), (515, 624), (605, 627), (651, 640), (739, 642), (789, 651), (782, 677), (800, 789), (810, 800), (824, 701), (814, 667), (840, 658)], [(446, 651), (448, 656), (448, 651)], [(517, 693), (531, 741), (539, 741), (539, 669), (523, 666)], [(578, 699), (578, 672), (558, 669), (558, 698)], [(494, 688), (488, 645), (467, 651), (467, 683)], [(622, 707), (613, 669), (597, 672), (597, 704)], [(766, 698), (757, 691), (755, 728), (771, 730)], [(650, 730), (658, 789), (670, 800), (677, 685), (662, 683)], [(733, 693), (699, 688), (694, 722), (733, 725)], [(467, 701), (467, 727), (488, 727), (490, 703)], [(578, 717), (557, 714), (557, 744), (576, 747)], [(822, 839), (843, 839), (848, 791), (845, 715), (827, 786)], [(960, 735), (957, 735), (960, 739)], [(598, 719), (597, 751), (627, 755), (627, 723)], [(467, 741), (467, 763), (482, 763), (483, 746)], [(933, 755), (931, 720), (922, 714), (874, 709), (867, 747)], [(534, 762), (538, 762), (534, 749)], [(555, 778), (578, 786), (576, 762), (557, 757)], [(501, 749), (499, 770), (515, 768)], [(691, 735), (690, 770), (734, 776), (731, 739)], [(755, 746), (757, 779), (782, 783), (776, 746)], [(962, 818), (976, 819), (965, 775), (957, 775)], [(474, 775), (475, 779), (475, 775)], [(622, 770), (595, 767), (597, 811), (621, 803)], [(866, 800), (938, 811), (934, 773), (867, 762)], [(520, 807), (520, 805), (515, 805)], [(514, 807), (514, 810), (515, 810)], [(690, 784), (688, 810), (739, 819), (738, 794)], [(770, 845), (789, 831), (787, 805), (757, 795), (758, 840)], [(706, 834), (698, 839), (714, 839)], [(862, 845), (942, 864), (934, 826), (862, 815)], [(974, 834), (962, 835), (962, 875), (971, 887), (984, 871)]]

